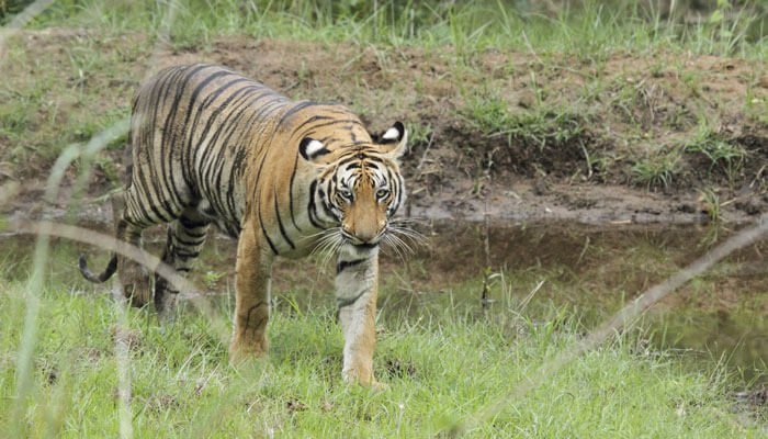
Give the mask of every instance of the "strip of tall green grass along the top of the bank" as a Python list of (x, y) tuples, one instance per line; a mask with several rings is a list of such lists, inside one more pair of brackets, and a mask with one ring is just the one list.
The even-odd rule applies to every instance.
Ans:
[[(577, 53), (599, 57), (615, 49), (675, 48), (701, 54), (764, 57), (765, 19), (759, 2), (744, 11), (704, 10), (709, 20), (682, 24), (653, 2), (586, 1), (556, 12), (534, 2), (237, 1), (174, 3), (171, 38), (179, 48), (215, 35), (290, 37), (326, 42), (438, 47), (462, 58), (489, 47)], [(154, 1), (57, 1), (37, 25), (95, 26), (109, 32), (159, 32), (168, 7)], [(725, 13), (723, 13), (725, 12)], [(184, 25), (174, 25), (184, 23)]]

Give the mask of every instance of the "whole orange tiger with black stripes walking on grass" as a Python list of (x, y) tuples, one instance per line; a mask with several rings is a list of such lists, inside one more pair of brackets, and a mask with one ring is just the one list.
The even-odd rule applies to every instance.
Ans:
[[(222, 66), (167, 68), (132, 102), (132, 164), (115, 237), (140, 247), (144, 229), (168, 223), (161, 260), (181, 275), (212, 224), (237, 239), (233, 363), (268, 351), (273, 261), (330, 251), (341, 375), (374, 385), (379, 250), (399, 240), (393, 216), (406, 200), (407, 138), (402, 122), (374, 135), (345, 105), (294, 101)], [(101, 273), (89, 270), (84, 255), (79, 269), (92, 282), (117, 271), (135, 306), (151, 297), (145, 269), (116, 252)], [(155, 275), (160, 315), (174, 309), (178, 294)]]

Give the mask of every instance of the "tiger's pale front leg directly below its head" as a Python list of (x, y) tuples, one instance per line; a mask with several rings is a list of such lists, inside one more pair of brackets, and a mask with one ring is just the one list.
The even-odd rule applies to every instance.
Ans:
[(339, 256), (336, 266), (336, 302), (345, 335), (343, 379), (375, 385), (373, 350), (376, 345), (376, 299), (379, 294), (379, 255)]

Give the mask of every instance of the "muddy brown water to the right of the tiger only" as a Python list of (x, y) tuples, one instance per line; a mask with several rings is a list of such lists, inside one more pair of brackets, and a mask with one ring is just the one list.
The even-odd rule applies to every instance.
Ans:
[[(443, 225), (433, 227), (432, 245), (413, 263), (430, 273), (433, 288), (474, 280), (463, 299), (477, 307), (482, 280), (490, 279), (489, 308), (500, 312), (510, 307), (507, 296), (524, 297), (541, 284), (531, 304), (565, 306), (588, 330), (735, 232), (697, 225)], [(768, 238), (651, 308), (640, 325), (653, 347), (687, 356), (692, 365), (724, 362), (747, 381), (768, 382), (766, 255)], [(538, 313), (531, 305), (526, 311)]]

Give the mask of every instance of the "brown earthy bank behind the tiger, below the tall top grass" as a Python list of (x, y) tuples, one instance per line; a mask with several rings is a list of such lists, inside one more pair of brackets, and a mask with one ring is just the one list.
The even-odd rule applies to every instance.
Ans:
[[(414, 139), (404, 159), (410, 215), (696, 223), (713, 209), (705, 192), (716, 195), (725, 222), (768, 212), (768, 70), (761, 60), (679, 53), (456, 54), (241, 36), (153, 54), (139, 34), (56, 29), (24, 32), (11, 43), (15, 55), (0, 65), (3, 95), (12, 101), (42, 88), (46, 108), (56, 108), (53, 115), (33, 112), (19, 136), (0, 134), (1, 209), (18, 215), (41, 211), (55, 156), (14, 151), (72, 138), (63, 131), (74, 115), (127, 115), (143, 78), (193, 61), (229, 66), (292, 98), (348, 104), (373, 131), (404, 121)], [(75, 66), (72, 54), (89, 49), (102, 57), (91, 69)], [(726, 167), (690, 153), (686, 145), (702, 130), (744, 156)], [(117, 185), (114, 176), (122, 171), (120, 147), (101, 155), (87, 190), (89, 207), (79, 211), (92, 218), (109, 216), (100, 196)], [(663, 179), (637, 171), (639, 164), (666, 159), (673, 167)], [(69, 202), (76, 176), (76, 168), (67, 173), (59, 209)]]

